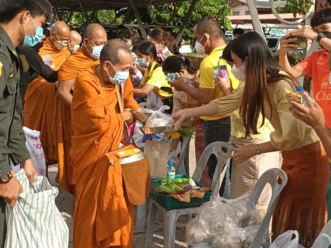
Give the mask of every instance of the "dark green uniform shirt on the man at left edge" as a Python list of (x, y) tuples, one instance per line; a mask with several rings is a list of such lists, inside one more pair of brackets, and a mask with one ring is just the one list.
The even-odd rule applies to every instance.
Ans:
[(19, 58), (8, 34), (0, 26), (0, 176), (10, 172), (9, 159), (18, 165), (30, 158), (21, 112)]

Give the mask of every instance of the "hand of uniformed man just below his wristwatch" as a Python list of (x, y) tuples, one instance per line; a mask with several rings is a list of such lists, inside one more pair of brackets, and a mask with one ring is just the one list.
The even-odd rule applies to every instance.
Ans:
[(19, 193), (23, 192), (22, 186), (15, 176), (8, 183), (0, 183), (0, 197), (5, 200), (10, 207), (14, 207), (19, 198)]

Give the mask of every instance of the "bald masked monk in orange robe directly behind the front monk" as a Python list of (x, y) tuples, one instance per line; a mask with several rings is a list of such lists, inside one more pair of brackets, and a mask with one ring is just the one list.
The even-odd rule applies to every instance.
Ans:
[[(92, 70), (99, 65), (99, 54), (103, 45), (107, 43), (106, 30), (97, 23), (88, 25), (83, 34), (83, 47), (72, 52), (59, 70), (59, 105), (57, 107), (57, 149), (59, 185), (68, 192), (73, 193), (74, 180), (72, 178), (72, 151), (71, 151), (71, 102), (74, 90), (74, 81), (77, 76), (86, 70)], [(97, 56), (98, 55), (98, 56)]]

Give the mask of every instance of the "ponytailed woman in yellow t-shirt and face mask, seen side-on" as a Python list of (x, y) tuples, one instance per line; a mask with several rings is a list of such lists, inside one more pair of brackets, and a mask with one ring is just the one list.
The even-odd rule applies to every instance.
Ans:
[(163, 73), (161, 61), (157, 58), (155, 45), (150, 41), (141, 43), (137, 48), (137, 57), (137, 63), (146, 68), (146, 72), (139, 88), (134, 89), (134, 96), (140, 98), (147, 96), (146, 107), (150, 110), (157, 110), (163, 104), (169, 105), (172, 89)]

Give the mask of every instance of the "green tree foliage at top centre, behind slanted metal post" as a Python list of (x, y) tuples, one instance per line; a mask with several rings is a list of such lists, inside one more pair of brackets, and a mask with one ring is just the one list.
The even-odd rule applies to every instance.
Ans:
[[(168, 3), (163, 6), (152, 6), (150, 16), (157, 23), (166, 23), (167, 25), (181, 26), (183, 17), (190, 8), (190, 1), (183, 3)], [(228, 6), (228, 1), (225, 0), (199, 0), (192, 13), (192, 17), (183, 34), (183, 39), (193, 41), (193, 27), (202, 17), (213, 17), (217, 19), (219, 25), (226, 30), (231, 30), (231, 21), (227, 16), (231, 15), (231, 8)], [(179, 32), (179, 28), (174, 28), (172, 32)]]

